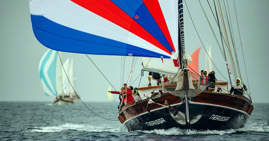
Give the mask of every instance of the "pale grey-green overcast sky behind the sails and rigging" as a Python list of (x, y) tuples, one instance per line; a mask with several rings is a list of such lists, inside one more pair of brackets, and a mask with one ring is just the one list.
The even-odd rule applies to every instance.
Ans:
[[(224, 59), (212, 35), (210, 27), (196, 0), (187, 1), (190, 14), (201, 37), (212, 47), (212, 59), (221, 73), (228, 79)], [(213, 4), (213, 3), (211, 3)], [(240, 46), (233, 1), (228, 0), (235, 44)], [(206, 1), (202, 3), (206, 14), (219, 38), (217, 24)], [(235, 0), (239, 29), (243, 44), (246, 69), (253, 102), (269, 102), (269, 1), (268, 0)], [(187, 54), (192, 54), (201, 42), (190, 20), (184, 5), (184, 32)], [(217, 34), (218, 33), (218, 34)], [(0, 0), (0, 101), (50, 101), (54, 97), (44, 94), (38, 73), (38, 65), (47, 48), (39, 43), (32, 31), (28, 0)], [(246, 73), (241, 48), (237, 50), (240, 69), (245, 84)], [(119, 56), (89, 55), (93, 62), (104, 73), (107, 79), (119, 90), (120, 61)], [(107, 89), (110, 84), (94, 67), (85, 54), (63, 53), (63, 59), (74, 58), (75, 90), (84, 101), (108, 101)], [(126, 57), (126, 62), (129, 59)], [(205, 49), (202, 47), (199, 57), (200, 70), (205, 66)], [(125, 66), (128, 66), (127, 65)], [(138, 59), (133, 79), (141, 71), (141, 58)], [(218, 80), (224, 80), (213, 67)], [(127, 81), (125, 69), (125, 80)], [(138, 79), (139, 80), (139, 79)], [(139, 81), (133, 86), (137, 87)], [(142, 77), (141, 84), (148, 84), (147, 73)], [(229, 86), (230, 88), (230, 86)], [(115, 96), (116, 97), (116, 96)]]

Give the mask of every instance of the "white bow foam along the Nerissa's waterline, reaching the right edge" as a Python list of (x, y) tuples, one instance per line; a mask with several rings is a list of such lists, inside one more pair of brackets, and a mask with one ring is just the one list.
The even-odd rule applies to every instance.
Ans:
[(170, 129), (155, 129), (151, 131), (135, 131), (143, 133), (153, 133), (158, 135), (192, 135), (192, 134), (232, 134), (232, 133), (241, 133), (241, 132), (266, 132), (269, 133), (269, 125), (267, 122), (254, 122), (250, 125), (246, 125), (244, 128), (239, 129), (228, 129), (228, 130), (188, 130), (180, 128), (170, 128)]

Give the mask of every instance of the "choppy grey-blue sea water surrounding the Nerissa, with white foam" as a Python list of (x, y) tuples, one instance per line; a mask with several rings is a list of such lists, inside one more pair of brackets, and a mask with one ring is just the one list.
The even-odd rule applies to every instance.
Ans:
[[(85, 104), (96, 114), (117, 120), (118, 103)], [(257, 103), (244, 128), (127, 132), (118, 120), (98, 117), (81, 102), (71, 106), (56, 106), (49, 102), (0, 102), (0, 140), (269, 141), (268, 123), (269, 104)]]

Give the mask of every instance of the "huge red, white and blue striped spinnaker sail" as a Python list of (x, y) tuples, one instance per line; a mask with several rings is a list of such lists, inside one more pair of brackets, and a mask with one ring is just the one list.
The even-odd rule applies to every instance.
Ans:
[(29, 0), (34, 34), (57, 51), (174, 58), (178, 0)]

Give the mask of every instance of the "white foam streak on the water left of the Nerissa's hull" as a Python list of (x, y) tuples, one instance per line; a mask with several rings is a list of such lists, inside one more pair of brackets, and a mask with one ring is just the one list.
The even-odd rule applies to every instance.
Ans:
[(101, 126), (86, 125), (86, 124), (59, 124), (56, 126), (34, 127), (31, 132), (60, 132), (65, 130), (87, 131), (87, 132), (119, 132), (120, 128), (115, 128), (110, 125), (103, 124)]

